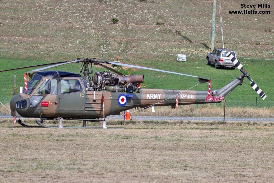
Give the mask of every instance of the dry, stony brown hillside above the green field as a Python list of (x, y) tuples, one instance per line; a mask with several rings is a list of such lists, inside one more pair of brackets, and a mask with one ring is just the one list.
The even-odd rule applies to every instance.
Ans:
[[(205, 54), (210, 48), (212, 1), (79, 0), (0, 2), (1, 50), (98, 50)], [(229, 14), (241, 3), (222, 1), (225, 47), (238, 56), (273, 59), (273, 7), (264, 14)], [(247, 9), (247, 10), (254, 10)], [(221, 47), (216, 7), (216, 47)], [(117, 17), (118, 24), (111, 24)], [(164, 23), (159, 26), (157, 22)], [(268, 31), (270, 28), (270, 32)], [(265, 31), (267, 29), (267, 31)], [(26, 53), (29, 54), (29, 53)]]

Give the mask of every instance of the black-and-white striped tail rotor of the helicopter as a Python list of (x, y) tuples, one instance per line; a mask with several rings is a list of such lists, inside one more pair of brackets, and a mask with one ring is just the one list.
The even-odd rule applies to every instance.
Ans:
[(243, 65), (234, 57), (234, 55), (231, 54), (231, 52), (228, 52), (226, 55), (232, 63), (244, 74), (245, 77), (248, 78), (250, 81), (251, 87), (256, 91), (258, 95), (264, 100), (267, 96), (265, 93), (261, 90), (261, 88), (258, 87), (258, 85), (249, 77), (249, 75), (246, 73), (246, 71), (243, 70)]

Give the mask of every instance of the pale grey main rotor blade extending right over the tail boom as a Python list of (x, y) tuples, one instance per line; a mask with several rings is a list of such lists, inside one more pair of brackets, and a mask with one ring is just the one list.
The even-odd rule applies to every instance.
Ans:
[(105, 62), (105, 63), (110, 63), (110, 64), (113, 64), (113, 65), (119, 65), (119, 66), (135, 67), (135, 68), (146, 69), (146, 70), (155, 70), (155, 71), (159, 71), (159, 72), (165, 72), (165, 73), (171, 73), (171, 74), (178, 74), (178, 75), (182, 75), (182, 76), (196, 77), (196, 78), (199, 79), (199, 83), (206, 83), (206, 82), (208, 82), (209, 80), (211, 80), (210, 78), (206, 78), (206, 77), (193, 76), (193, 75), (189, 75), (189, 74), (182, 74), (182, 73), (171, 72), (171, 71), (167, 71), (167, 70), (153, 69), (153, 68), (149, 68), (149, 67), (128, 65), (128, 64), (124, 64), (124, 63), (115, 63), (115, 62)]

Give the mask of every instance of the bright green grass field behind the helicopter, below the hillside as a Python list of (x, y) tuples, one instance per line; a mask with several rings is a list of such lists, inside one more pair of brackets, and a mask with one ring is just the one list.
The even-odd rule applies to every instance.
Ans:
[[(71, 60), (76, 59), (80, 56), (87, 57), (90, 53), (80, 53), (76, 57), (74, 54), (52, 54), (49, 55), (51, 58), (50, 61), (47, 61), (45, 58), (40, 57), (38, 53), (35, 56), (30, 58), (25, 57), (22, 53), (16, 53), (18, 57), (23, 57), (22, 59), (16, 58), (0, 58), (2, 69), (9, 69), (21, 66), (30, 66), (37, 65), (42, 63), (58, 62), (62, 60)], [(97, 53), (98, 54), (98, 53)], [(94, 55), (94, 54), (93, 54)], [(114, 60), (117, 54), (105, 54), (105, 60)], [(235, 70), (221, 68), (215, 69), (213, 65), (206, 65), (205, 58), (188, 56), (186, 62), (177, 62), (176, 55), (141, 55), (141, 54), (120, 54), (122, 63), (135, 64), (147, 67), (153, 67), (156, 69), (170, 70), (174, 72), (191, 74), (196, 76), (204, 76), (212, 79), (212, 89), (221, 88), (225, 84), (237, 78), (241, 72), (236, 68)], [(94, 56), (93, 56), (94, 57)], [(100, 56), (98, 55), (100, 58)], [(228, 97), (227, 105), (228, 106), (254, 106), (255, 98), (258, 97), (258, 106), (273, 106), (273, 92), (274, 86), (274, 62), (269, 60), (257, 60), (257, 59), (239, 59), (240, 62), (244, 65), (244, 69), (248, 71), (251, 75), (251, 78), (258, 84), (260, 88), (268, 95), (268, 97), (263, 101), (256, 92), (251, 88), (249, 81), (245, 79), (244, 83), (241, 86), (238, 86), (234, 91), (232, 91)], [(0, 80), (2, 82), (0, 102), (8, 102), (12, 97), (12, 86), (13, 86), (13, 75), (17, 76), (17, 88), (23, 86), (23, 73), (26, 71), (33, 70), (35, 68), (22, 69), (16, 71), (9, 71), (0, 73)], [(73, 63), (65, 66), (59, 66), (54, 68), (55, 70), (65, 70), (69, 72), (79, 73), (80, 64)], [(53, 70), (53, 69), (50, 69)], [(100, 67), (95, 67), (94, 70), (104, 70)], [(160, 73), (150, 70), (136, 70), (136, 69), (127, 69), (121, 70), (124, 74), (128, 72), (130, 74), (143, 74), (145, 76), (144, 84), (147, 85), (146, 88), (165, 88), (165, 89), (188, 89), (198, 83), (198, 80), (191, 77), (184, 77), (175, 74)], [(206, 84), (201, 84), (193, 88), (193, 90), (207, 90)]]

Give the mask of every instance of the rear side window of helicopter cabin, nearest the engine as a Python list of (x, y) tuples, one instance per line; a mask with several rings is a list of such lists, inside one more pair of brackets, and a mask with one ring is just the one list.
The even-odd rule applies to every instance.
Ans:
[(73, 93), (82, 91), (82, 86), (79, 80), (76, 79), (62, 79), (61, 80), (61, 93)]

